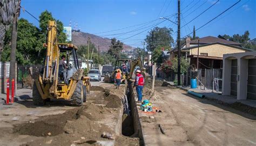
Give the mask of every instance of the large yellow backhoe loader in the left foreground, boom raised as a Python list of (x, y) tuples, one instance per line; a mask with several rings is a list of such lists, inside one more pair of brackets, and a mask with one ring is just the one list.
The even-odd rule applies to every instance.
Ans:
[[(45, 105), (51, 98), (70, 100), (72, 106), (81, 106), (90, 91), (90, 79), (83, 76), (77, 57), (77, 47), (58, 43), (55, 21), (48, 23), (48, 38), (44, 67), (33, 84), (33, 103)], [(60, 66), (60, 54), (66, 56), (65, 68)], [(62, 61), (63, 63), (63, 61)]]

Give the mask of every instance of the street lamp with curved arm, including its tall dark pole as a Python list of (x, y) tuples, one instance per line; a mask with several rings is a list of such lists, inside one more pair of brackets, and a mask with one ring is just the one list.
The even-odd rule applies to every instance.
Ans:
[(173, 22), (172, 20), (165, 18), (165, 17), (160, 17), (159, 19), (166, 19), (169, 20), (171, 23), (174, 23), (178, 26), (178, 36), (177, 36), (177, 47), (178, 47), (178, 86), (180, 86), (180, 1), (178, 1), (178, 24)]

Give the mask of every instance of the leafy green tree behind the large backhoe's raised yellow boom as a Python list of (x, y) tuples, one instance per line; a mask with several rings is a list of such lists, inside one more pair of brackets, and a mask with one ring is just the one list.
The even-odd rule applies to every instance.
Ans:
[[(49, 20), (54, 20), (51, 13), (44, 11), (39, 16), (39, 27), (32, 25), (26, 19), (19, 19), (17, 25), (17, 49), (16, 61), (18, 64), (43, 63), (46, 49), (47, 26)], [(58, 30), (58, 42), (65, 42), (66, 35), (63, 33), (63, 24), (56, 21)], [(10, 61), (11, 30), (6, 33), (4, 39), (4, 51), (2, 61)]]

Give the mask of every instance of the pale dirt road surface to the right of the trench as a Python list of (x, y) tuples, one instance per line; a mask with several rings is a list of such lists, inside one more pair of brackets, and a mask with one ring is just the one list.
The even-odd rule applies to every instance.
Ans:
[[(183, 90), (156, 87), (158, 99), (153, 101), (163, 109), (155, 119), (143, 120), (148, 145), (256, 145), (256, 117), (230, 107), (199, 99)], [(166, 135), (161, 134), (162, 124)], [(148, 127), (147, 129), (145, 129)], [(154, 138), (153, 138), (154, 137)]]

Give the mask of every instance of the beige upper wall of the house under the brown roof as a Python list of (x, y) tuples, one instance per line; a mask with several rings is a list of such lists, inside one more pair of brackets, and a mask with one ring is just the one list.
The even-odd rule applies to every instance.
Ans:
[[(190, 55), (197, 55), (198, 48), (190, 49)], [(224, 54), (228, 53), (241, 53), (246, 52), (245, 50), (238, 49), (231, 46), (225, 46), (221, 44), (213, 44), (208, 46), (199, 47), (199, 55), (200, 53), (208, 53), (208, 56), (214, 57), (223, 57)]]

